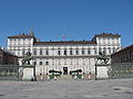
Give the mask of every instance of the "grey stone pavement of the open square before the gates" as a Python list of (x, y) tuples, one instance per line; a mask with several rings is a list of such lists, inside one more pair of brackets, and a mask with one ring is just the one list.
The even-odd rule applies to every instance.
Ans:
[(133, 99), (133, 79), (0, 81), (0, 99)]

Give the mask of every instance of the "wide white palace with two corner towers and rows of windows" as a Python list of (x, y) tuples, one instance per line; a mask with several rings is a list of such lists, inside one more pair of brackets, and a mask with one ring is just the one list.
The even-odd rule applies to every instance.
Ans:
[(68, 75), (70, 70), (82, 69), (84, 74), (95, 74), (95, 59), (99, 52), (109, 57), (121, 50), (121, 35), (112, 33), (96, 34), (91, 41), (49, 41), (40, 42), (32, 30), (29, 34), (8, 36), (8, 50), (19, 59), (19, 65), (27, 52), (35, 58), (37, 75), (49, 74), (49, 70), (61, 70)]

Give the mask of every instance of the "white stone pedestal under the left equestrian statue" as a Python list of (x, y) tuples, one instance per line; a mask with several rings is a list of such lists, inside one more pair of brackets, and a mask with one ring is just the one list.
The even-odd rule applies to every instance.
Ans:
[(35, 79), (35, 66), (23, 66), (22, 80), (34, 80)]

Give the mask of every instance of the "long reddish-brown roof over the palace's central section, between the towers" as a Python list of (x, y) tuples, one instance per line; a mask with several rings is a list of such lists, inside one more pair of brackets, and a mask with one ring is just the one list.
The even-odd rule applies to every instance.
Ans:
[(61, 44), (61, 43), (64, 43), (64, 44), (96, 44), (95, 42), (93, 41), (54, 41), (54, 42), (35, 42), (34, 44), (38, 45), (38, 44)]

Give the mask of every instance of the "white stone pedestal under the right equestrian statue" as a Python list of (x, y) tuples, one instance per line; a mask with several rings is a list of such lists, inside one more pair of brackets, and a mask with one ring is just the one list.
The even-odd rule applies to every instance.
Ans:
[(95, 65), (96, 79), (109, 78), (108, 70), (109, 70), (109, 65), (108, 64), (96, 64)]

